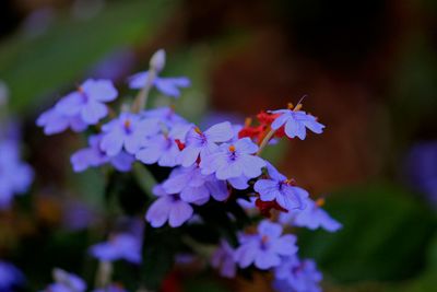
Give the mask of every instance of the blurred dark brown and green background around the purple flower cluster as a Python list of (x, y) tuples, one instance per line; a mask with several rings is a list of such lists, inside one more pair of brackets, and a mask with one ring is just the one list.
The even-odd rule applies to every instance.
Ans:
[[(35, 118), (87, 77), (126, 89), (158, 48), (168, 56), (164, 74), (192, 80), (176, 110), (201, 125), (243, 122), (308, 95), (304, 109), (326, 132), (267, 154), (314, 197), (327, 197), (344, 225), (300, 234), (326, 291), (436, 291), (432, 0), (2, 0), (0, 80), (22, 120), (37, 196), (20, 198), (26, 212), (0, 213), (0, 257), (38, 284), (54, 266), (82, 265), (95, 242), (86, 226), (103, 224), (95, 222), (103, 182), (71, 171), (69, 155), (83, 141), (44, 137)], [(35, 246), (45, 262), (35, 262)], [(172, 277), (166, 291), (269, 291), (261, 276), (232, 283)]]

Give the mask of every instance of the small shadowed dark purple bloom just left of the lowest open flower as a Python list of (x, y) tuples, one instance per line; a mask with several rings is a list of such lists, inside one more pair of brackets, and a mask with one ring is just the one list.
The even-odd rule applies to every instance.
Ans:
[(226, 241), (222, 241), (211, 258), (211, 266), (220, 269), (220, 275), (225, 278), (235, 278), (237, 264), (234, 259), (234, 248)]

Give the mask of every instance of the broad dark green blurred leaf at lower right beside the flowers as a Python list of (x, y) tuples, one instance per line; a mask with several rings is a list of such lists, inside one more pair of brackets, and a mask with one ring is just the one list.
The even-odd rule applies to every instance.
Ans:
[(344, 227), (334, 234), (302, 232), (299, 246), (335, 281), (395, 281), (424, 269), (436, 231), (430, 210), (390, 185), (343, 190), (327, 209)]

